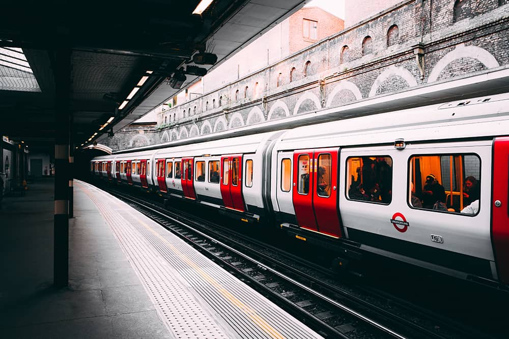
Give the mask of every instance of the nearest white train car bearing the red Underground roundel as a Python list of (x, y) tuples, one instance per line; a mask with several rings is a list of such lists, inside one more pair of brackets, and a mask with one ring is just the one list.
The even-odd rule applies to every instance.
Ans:
[(509, 283), (509, 97), (296, 128), (272, 154), (272, 205), (298, 239)]

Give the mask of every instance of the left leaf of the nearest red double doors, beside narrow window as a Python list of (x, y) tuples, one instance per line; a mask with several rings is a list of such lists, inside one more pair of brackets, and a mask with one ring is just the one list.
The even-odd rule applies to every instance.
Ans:
[(318, 231), (313, 211), (313, 150), (296, 150), (293, 155), (293, 206), (300, 227)]

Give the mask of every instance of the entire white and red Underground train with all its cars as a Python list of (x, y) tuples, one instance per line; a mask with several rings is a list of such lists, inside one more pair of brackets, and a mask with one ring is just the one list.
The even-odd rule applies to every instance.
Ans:
[[(125, 150), (90, 174), (337, 253), (509, 285), (509, 94)], [(262, 231), (261, 231), (262, 232)]]

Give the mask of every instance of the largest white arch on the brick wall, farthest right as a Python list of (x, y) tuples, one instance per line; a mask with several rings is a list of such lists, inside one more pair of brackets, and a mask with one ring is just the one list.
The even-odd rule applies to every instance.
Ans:
[(476, 59), (488, 69), (500, 66), (497, 59), (495, 59), (495, 57), (486, 49), (477, 46), (465, 46), (465, 44), (459, 44), (454, 50), (445, 54), (440, 60), (438, 60), (438, 63), (435, 67), (433, 67), (433, 70), (428, 77), (428, 83), (437, 81), (440, 73), (442, 73), (447, 65), (462, 57)]

